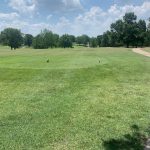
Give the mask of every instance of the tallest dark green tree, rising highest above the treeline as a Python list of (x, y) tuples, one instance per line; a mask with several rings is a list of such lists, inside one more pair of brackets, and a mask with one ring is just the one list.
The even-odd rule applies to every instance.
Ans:
[(133, 12), (126, 13), (123, 20), (117, 20), (111, 24), (110, 46), (125, 44), (137, 46), (144, 43), (145, 22), (136, 22), (137, 16)]

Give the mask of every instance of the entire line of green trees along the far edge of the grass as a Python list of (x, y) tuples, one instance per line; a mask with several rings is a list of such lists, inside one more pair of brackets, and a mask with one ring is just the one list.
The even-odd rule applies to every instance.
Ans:
[(59, 36), (47, 29), (33, 37), (31, 34), (22, 34), (18, 29), (6, 28), (0, 34), (0, 44), (10, 46), (11, 49), (21, 46), (32, 46), (35, 49), (72, 48), (74, 44), (87, 47), (150, 46), (150, 19), (146, 24), (145, 20), (137, 20), (133, 12), (126, 13), (123, 19), (111, 24), (109, 31), (92, 38), (88, 35)]

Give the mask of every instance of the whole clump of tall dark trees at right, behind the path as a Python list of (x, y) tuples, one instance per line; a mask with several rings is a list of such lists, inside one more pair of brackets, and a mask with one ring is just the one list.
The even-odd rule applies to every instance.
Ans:
[(150, 24), (146, 26), (145, 20), (137, 20), (133, 12), (126, 13), (123, 19), (112, 23), (110, 31), (98, 36), (99, 46), (144, 46), (150, 45)]

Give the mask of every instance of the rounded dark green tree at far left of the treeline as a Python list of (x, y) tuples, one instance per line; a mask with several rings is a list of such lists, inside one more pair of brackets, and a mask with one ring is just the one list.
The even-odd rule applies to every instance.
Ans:
[(23, 44), (21, 31), (13, 28), (6, 28), (1, 32), (1, 43), (12, 49), (19, 48)]

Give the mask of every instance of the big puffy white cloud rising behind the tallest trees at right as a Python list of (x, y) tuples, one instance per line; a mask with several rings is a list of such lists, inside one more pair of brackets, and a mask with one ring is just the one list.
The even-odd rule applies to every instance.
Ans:
[(73, 29), (72, 33), (75, 35), (86, 33), (96, 36), (108, 30), (110, 24), (117, 19), (121, 19), (126, 12), (135, 12), (138, 18), (148, 19), (150, 2), (144, 2), (141, 6), (118, 6), (115, 4), (106, 11), (100, 7), (92, 7), (89, 11), (78, 15), (73, 22), (70, 22), (69, 26)]

